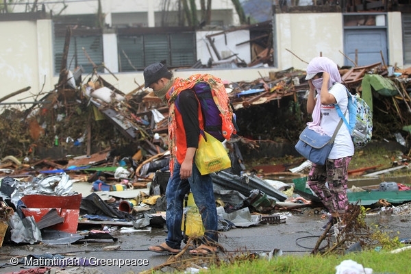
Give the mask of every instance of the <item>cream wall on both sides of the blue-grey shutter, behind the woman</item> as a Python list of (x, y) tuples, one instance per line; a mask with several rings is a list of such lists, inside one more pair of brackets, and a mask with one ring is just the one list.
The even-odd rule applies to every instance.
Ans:
[[(334, 60), (340, 66), (344, 64), (342, 13), (284, 13), (275, 16), (277, 16), (279, 68), (306, 69), (307, 64), (305, 62), (310, 62), (312, 58), (319, 55)], [(397, 64), (402, 68), (404, 64), (401, 12), (388, 12), (387, 17), (388, 58), (390, 64)]]

